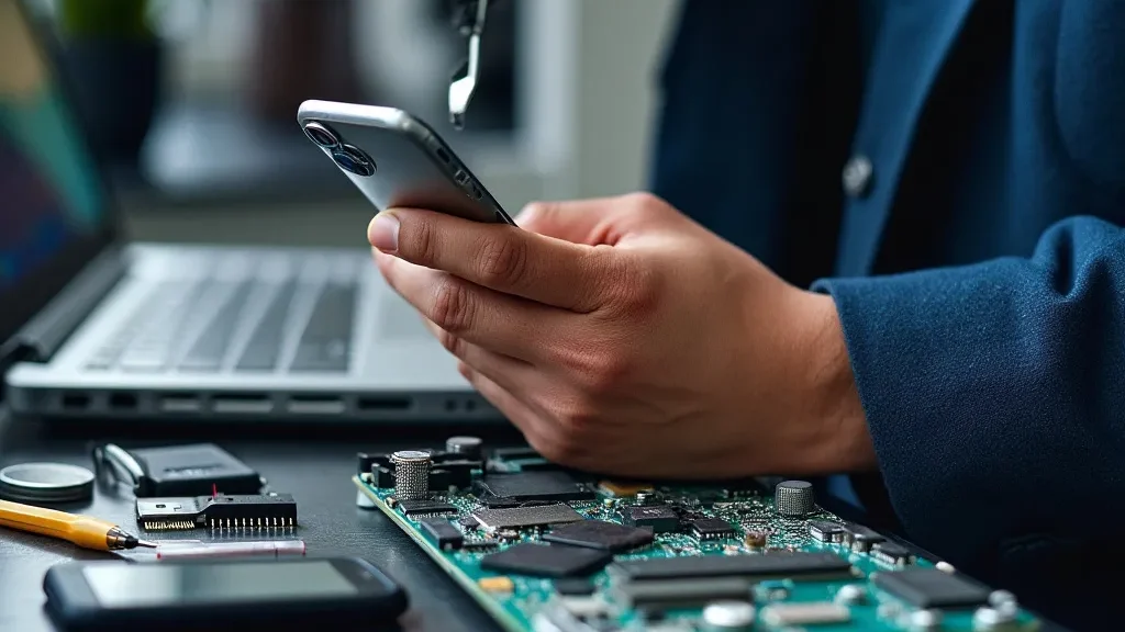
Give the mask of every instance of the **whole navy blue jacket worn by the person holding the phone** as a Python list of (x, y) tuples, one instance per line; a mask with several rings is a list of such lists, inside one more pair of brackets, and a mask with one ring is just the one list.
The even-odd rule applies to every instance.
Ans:
[(1084, 574), (1125, 529), (1125, 2), (681, 18), (654, 192), (835, 297), (906, 535), (1096, 625), (1114, 581)]

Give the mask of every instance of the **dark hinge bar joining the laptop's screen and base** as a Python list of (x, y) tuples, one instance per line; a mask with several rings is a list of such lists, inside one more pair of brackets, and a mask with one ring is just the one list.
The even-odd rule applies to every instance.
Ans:
[(62, 291), (0, 345), (0, 374), (16, 362), (46, 362), (125, 277), (127, 263), (119, 246), (102, 251), (82, 268)]

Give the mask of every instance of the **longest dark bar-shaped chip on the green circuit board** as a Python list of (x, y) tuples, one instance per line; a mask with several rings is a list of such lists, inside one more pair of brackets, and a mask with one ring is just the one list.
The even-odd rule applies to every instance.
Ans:
[(701, 556), (626, 560), (610, 567), (631, 581), (745, 577), (757, 580), (850, 577), (852, 565), (831, 552), (777, 551), (760, 556)]

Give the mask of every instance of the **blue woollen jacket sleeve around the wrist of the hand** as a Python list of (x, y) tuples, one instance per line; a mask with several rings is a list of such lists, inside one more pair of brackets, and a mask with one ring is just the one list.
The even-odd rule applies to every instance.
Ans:
[(1029, 259), (813, 289), (914, 541), (994, 578), (1011, 551), (1125, 524), (1125, 231), (1070, 218)]

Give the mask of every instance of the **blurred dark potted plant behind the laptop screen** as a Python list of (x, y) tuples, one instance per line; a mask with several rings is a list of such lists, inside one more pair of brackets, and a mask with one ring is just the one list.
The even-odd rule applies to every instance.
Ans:
[(93, 150), (135, 162), (152, 125), (161, 43), (148, 0), (55, 0), (66, 80)]

